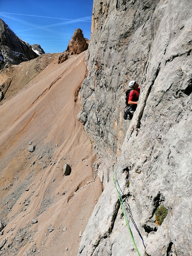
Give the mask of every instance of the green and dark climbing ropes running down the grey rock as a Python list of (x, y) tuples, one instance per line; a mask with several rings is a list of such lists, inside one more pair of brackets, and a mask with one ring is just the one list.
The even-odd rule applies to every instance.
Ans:
[[(118, 165), (117, 165), (117, 168), (118, 168)], [(120, 186), (119, 186), (119, 183), (118, 183), (118, 180), (117, 180), (117, 168), (116, 168), (116, 170), (115, 170), (115, 172), (114, 172), (114, 174), (113, 174), (114, 185), (115, 185), (115, 188), (116, 188), (116, 190), (117, 190), (117, 195), (118, 195), (118, 198), (119, 198), (119, 201), (120, 201), (120, 204), (121, 204), (121, 210), (122, 210), (122, 212), (123, 212), (123, 215), (124, 215), (124, 218), (125, 218), (125, 222), (126, 222), (126, 225), (127, 225), (127, 227), (128, 227), (128, 230), (129, 230), (129, 234), (130, 234), (131, 239), (132, 239), (132, 241), (133, 241), (133, 243), (134, 243), (135, 249), (136, 249), (136, 251), (138, 252), (138, 255), (141, 256), (140, 253), (139, 253), (139, 251), (138, 251), (137, 245), (136, 245), (136, 243), (135, 243), (134, 236), (133, 236), (133, 234), (132, 234), (132, 231), (131, 231), (131, 228), (130, 228), (130, 225), (129, 225), (129, 220), (128, 220), (128, 217), (127, 217), (127, 214), (126, 214), (124, 201), (123, 201), (123, 198), (122, 198), (122, 196), (121, 196), (122, 190), (121, 190), (121, 188), (120, 188)], [(114, 179), (114, 176), (115, 176), (116, 181), (115, 181), (115, 179)], [(125, 195), (124, 195), (124, 196), (125, 196)], [(129, 206), (129, 204), (128, 204), (128, 206)], [(131, 213), (131, 211), (130, 211), (130, 206), (129, 206), (129, 212)], [(132, 222), (134, 223), (134, 226), (136, 227), (136, 229), (137, 229), (137, 231), (138, 231), (138, 227), (136, 226), (136, 223), (134, 222), (134, 219), (133, 219), (132, 214), (131, 214), (131, 219), (132, 219)], [(139, 232), (139, 231), (138, 231), (138, 232)], [(139, 232), (139, 235), (141, 236), (140, 232)], [(142, 236), (141, 236), (141, 237), (142, 237)], [(143, 240), (143, 239), (142, 239), (142, 240)], [(144, 243), (143, 243), (143, 245), (144, 245)], [(145, 247), (145, 245), (144, 245), (144, 247)]]

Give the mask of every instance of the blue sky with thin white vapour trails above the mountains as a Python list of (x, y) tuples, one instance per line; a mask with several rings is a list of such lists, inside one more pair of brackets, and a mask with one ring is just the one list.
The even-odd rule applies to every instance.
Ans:
[(60, 53), (77, 28), (90, 39), (92, 6), (93, 0), (0, 0), (0, 18), (30, 45)]

